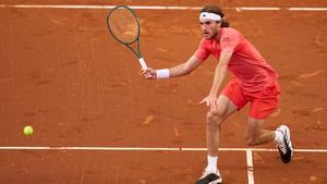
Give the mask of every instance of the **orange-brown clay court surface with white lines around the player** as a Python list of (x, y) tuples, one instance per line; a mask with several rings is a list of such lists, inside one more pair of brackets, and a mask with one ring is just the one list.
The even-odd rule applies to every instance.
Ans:
[[(272, 144), (247, 147), (243, 109), (222, 126), (223, 184), (327, 184), (327, 2), (221, 3), (279, 73), (280, 108), (265, 127), (289, 125), (295, 147), (289, 164)], [(117, 4), (147, 7), (135, 11), (149, 66), (173, 66), (197, 48), (194, 8), (204, 4), (195, 0), (0, 0), (0, 183), (191, 184), (201, 176), (208, 109), (198, 102), (217, 60), (185, 77), (144, 79), (136, 58), (109, 35), (105, 5)]]

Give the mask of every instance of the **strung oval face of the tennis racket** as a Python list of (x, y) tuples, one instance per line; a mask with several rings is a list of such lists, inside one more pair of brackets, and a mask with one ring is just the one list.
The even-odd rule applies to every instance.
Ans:
[(138, 37), (138, 24), (135, 15), (128, 9), (116, 9), (108, 19), (112, 35), (124, 44), (131, 44)]

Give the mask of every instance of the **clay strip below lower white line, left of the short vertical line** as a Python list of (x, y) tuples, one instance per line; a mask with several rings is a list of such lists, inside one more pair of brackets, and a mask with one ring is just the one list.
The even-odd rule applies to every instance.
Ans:
[[(3, 151), (5, 183), (194, 183), (202, 152)], [(221, 155), (226, 184), (246, 183), (244, 154)], [(197, 159), (194, 159), (197, 158)], [(5, 171), (5, 172), (2, 172)]]

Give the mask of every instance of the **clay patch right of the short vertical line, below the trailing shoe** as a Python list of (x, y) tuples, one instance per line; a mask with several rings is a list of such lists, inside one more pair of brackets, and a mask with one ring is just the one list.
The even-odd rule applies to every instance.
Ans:
[(255, 152), (254, 183), (326, 184), (326, 152), (296, 152), (291, 164), (278, 162), (275, 152)]

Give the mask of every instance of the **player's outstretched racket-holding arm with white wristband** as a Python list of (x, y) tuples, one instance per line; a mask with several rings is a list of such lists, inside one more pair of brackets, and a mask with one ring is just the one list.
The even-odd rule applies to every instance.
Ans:
[(152, 68), (143, 69), (141, 71), (145, 78), (169, 78), (190, 74), (195, 70), (203, 60), (192, 56), (186, 62), (172, 66), (170, 69), (154, 70)]

